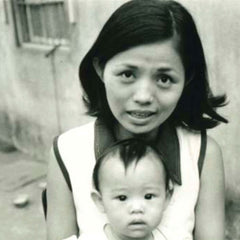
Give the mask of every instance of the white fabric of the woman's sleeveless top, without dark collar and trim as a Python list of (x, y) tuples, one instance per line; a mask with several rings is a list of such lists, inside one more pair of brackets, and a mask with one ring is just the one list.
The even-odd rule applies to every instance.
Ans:
[[(92, 171), (95, 165), (94, 124), (71, 129), (58, 137), (58, 153), (70, 178), (77, 223), (81, 234), (102, 231), (107, 220), (93, 203)], [(168, 240), (192, 240), (195, 225), (194, 209), (199, 193), (198, 158), (201, 134), (177, 128), (180, 144), (182, 185), (174, 191), (163, 213), (159, 230)]]

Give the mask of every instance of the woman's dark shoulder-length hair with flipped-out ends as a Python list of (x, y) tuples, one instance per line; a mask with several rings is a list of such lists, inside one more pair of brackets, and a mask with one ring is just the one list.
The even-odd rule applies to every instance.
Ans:
[(97, 40), (81, 62), (79, 77), (88, 113), (112, 124), (105, 87), (98, 77), (93, 59), (104, 69), (119, 52), (141, 44), (174, 38), (185, 68), (185, 87), (169, 118), (174, 125), (196, 130), (227, 122), (215, 109), (225, 105), (226, 97), (213, 96), (203, 47), (194, 20), (179, 3), (171, 0), (132, 0), (118, 8), (104, 25)]

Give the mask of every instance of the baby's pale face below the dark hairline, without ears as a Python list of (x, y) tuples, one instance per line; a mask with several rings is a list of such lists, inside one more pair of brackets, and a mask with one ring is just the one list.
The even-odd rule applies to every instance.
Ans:
[(148, 239), (162, 217), (166, 198), (164, 167), (152, 153), (127, 170), (116, 158), (107, 159), (99, 173), (105, 213), (120, 239)]

